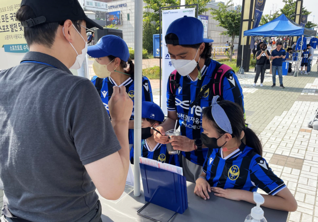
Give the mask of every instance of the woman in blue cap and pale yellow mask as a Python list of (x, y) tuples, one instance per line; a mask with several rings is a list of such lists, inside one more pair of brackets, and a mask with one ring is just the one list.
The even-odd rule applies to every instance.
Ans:
[[(91, 79), (91, 82), (95, 85), (108, 114), (108, 102), (112, 97), (114, 86), (125, 86), (126, 92), (134, 102), (134, 63), (129, 58), (129, 49), (125, 41), (114, 35), (103, 36), (96, 45), (88, 47), (87, 53), (95, 58), (93, 70), (96, 76)], [(142, 78), (142, 85), (142, 101), (152, 102), (150, 81), (145, 76)], [(129, 129), (129, 144), (132, 147), (134, 144), (134, 110), (129, 121)]]

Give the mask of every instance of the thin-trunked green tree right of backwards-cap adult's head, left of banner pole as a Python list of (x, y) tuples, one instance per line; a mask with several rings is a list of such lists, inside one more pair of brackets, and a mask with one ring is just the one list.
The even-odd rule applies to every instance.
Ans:
[[(225, 5), (219, 3), (218, 6), (219, 9), (212, 9), (211, 15), (219, 22), (218, 26), (227, 29), (221, 35), (229, 35), (232, 38), (231, 45), (233, 45), (235, 36), (240, 34), (241, 9), (237, 7), (236, 11), (230, 10), (229, 8), (234, 6), (232, 0), (229, 0)], [(229, 61), (232, 61), (232, 47), (230, 47)]]

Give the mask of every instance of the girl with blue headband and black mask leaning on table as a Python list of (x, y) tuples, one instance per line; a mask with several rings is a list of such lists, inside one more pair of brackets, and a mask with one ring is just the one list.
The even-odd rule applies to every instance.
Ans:
[(262, 195), (262, 206), (295, 211), (293, 194), (262, 157), (262, 143), (246, 127), (242, 109), (231, 101), (217, 102), (218, 98), (203, 111), (201, 139), (208, 153), (194, 193), (204, 200), (213, 191), (218, 197), (254, 203), (253, 192), (260, 188), (268, 194)]

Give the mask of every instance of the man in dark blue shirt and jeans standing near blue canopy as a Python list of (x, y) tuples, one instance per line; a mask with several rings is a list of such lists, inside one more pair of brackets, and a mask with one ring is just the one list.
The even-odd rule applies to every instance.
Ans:
[(286, 57), (286, 51), (282, 48), (283, 43), (281, 41), (277, 42), (276, 49), (272, 51), (272, 76), (273, 76), (273, 87), (276, 86), (276, 71), (279, 77), (279, 87), (285, 88), (283, 85), (283, 59)]

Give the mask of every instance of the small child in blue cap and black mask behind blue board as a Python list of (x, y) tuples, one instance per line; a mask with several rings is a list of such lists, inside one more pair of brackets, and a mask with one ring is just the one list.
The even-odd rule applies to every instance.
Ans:
[[(178, 155), (168, 154), (167, 146), (155, 141), (154, 130), (151, 129), (151, 127), (155, 128), (164, 120), (161, 108), (153, 102), (142, 102), (141, 117), (141, 156), (180, 166)], [(134, 164), (134, 147), (130, 151), (130, 162)]]

